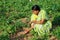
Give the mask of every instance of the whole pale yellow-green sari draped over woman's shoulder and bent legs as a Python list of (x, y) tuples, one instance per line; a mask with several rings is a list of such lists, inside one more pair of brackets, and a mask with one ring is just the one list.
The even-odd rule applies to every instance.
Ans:
[(34, 31), (38, 33), (39, 36), (44, 36), (46, 33), (48, 34), (50, 32), (50, 29), (52, 28), (52, 23), (49, 20), (48, 15), (46, 14), (45, 10), (41, 10), (38, 14), (37, 21), (40, 21), (42, 19), (47, 20), (44, 24), (35, 24), (34, 25)]

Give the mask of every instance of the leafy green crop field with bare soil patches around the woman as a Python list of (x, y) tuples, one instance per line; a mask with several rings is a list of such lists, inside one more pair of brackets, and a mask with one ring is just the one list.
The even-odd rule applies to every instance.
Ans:
[(42, 39), (38, 38), (33, 30), (28, 35), (15, 37), (23, 28), (30, 27), (28, 23), (32, 14), (31, 8), (35, 4), (46, 10), (52, 22), (51, 34), (60, 40), (60, 0), (0, 0), (0, 40), (50, 39), (47, 35)]

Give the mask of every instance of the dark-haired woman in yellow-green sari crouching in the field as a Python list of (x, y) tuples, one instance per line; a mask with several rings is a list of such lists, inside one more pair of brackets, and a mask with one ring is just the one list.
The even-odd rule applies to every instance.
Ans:
[(38, 5), (32, 7), (31, 28), (38, 33), (39, 36), (44, 36), (50, 32), (52, 23), (49, 20), (45, 10), (41, 10)]

